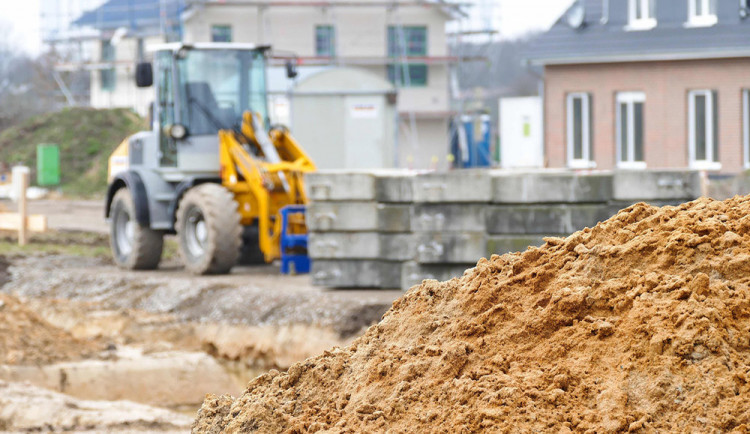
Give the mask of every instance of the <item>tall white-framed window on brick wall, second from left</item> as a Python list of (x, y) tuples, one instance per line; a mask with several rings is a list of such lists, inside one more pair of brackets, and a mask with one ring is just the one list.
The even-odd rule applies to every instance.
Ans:
[(617, 94), (617, 166), (644, 169), (643, 157), (643, 92), (620, 92)]

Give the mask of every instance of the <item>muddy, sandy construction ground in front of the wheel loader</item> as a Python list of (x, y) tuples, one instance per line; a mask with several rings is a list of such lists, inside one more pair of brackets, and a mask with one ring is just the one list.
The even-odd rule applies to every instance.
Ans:
[[(30, 210), (54, 229), (23, 248), (0, 232), (0, 318), (11, 336), (0, 329), (0, 431), (186, 431), (206, 393), (239, 395), (261, 373), (348, 344), (402, 294), (317, 288), (274, 265), (195, 277), (174, 240), (159, 270), (124, 271), (109, 258), (101, 205)], [(59, 350), (33, 350), (33, 339)]]

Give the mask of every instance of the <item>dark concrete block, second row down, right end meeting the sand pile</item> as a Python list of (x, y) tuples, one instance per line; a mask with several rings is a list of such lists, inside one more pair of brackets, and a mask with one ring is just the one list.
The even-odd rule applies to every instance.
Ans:
[(607, 204), (491, 205), (487, 208), (490, 234), (571, 234), (612, 216)]

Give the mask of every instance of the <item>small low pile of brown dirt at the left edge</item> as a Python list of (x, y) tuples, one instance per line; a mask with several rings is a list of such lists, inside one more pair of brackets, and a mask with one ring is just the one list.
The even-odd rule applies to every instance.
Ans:
[(29, 310), (17, 298), (0, 293), (0, 364), (45, 365), (90, 358), (98, 346), (74, 338)]

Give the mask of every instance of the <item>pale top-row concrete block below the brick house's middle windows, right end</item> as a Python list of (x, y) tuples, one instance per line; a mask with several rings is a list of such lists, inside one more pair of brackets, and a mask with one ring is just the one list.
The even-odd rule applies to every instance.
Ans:
[(614, 174), (614, 200), (648, 201), (700, 197), (700, 172), (684, 170), (618, 170)]

